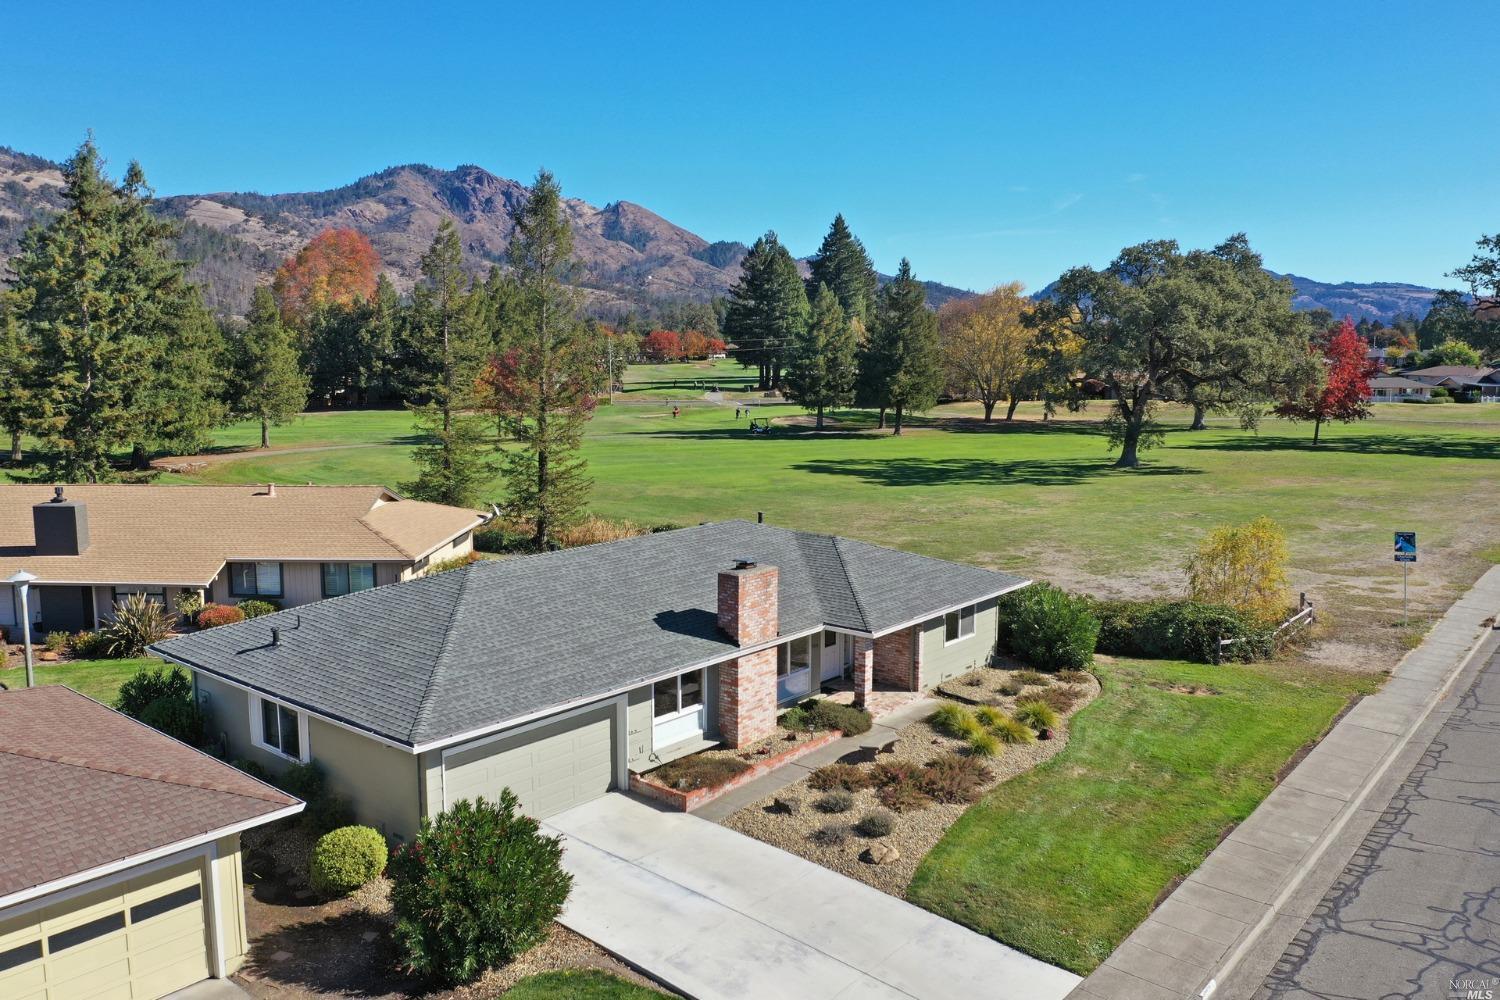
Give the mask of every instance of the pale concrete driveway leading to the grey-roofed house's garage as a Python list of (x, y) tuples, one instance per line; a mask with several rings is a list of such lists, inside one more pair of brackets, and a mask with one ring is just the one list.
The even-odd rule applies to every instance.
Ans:
[(1060, 1000), (1078, 978), (768, 844), (610, 793), (554, 816), (562, 924), (699, 1000)]

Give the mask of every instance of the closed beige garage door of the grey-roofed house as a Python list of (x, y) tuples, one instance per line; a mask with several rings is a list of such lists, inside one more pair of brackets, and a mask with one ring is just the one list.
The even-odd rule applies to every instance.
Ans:
[(604, 705), (519, 736), (448, 754), (442, 798), (495, 799), (510, 789), (537, 819), (596, 799), (615, 786), (615, 708)]

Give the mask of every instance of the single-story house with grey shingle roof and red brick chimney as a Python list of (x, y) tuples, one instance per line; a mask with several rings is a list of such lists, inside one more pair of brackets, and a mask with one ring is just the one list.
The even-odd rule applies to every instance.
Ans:
[(776, 732), (825, 685), (921, 690), (988, 663), (1029, 580), (832, 535), (722, 522), (506, 561), (170, 639), (213, 736), (318, 762), (360, 822), (508, 787), (548, 816)]

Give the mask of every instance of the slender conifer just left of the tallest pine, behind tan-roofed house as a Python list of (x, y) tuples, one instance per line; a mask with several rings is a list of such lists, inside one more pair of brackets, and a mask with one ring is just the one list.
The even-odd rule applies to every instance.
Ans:
[(408, 403), (426, 444), (412, 453), (417, 478), (402, 489), (414, 499), (454, 507), (477, 505), (492, 471), (488, 435), (471, 414), (488, 334), (468, 285), (458, 229), (444, 219), (422, 255), (406, 328), (410, 351), (426, 372), (426, 384), (417, 387), (426, 402)]

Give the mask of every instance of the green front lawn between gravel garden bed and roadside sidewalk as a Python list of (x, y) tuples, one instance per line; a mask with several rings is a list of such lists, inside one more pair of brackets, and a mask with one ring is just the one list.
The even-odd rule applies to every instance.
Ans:
[[(974, 805), (908, 897), (1086, 975), (1380, 678), (1286, 664), (1098, 664), (1068, 747)], [(1209, 687), (1218, 694), (1172, 691)]]

